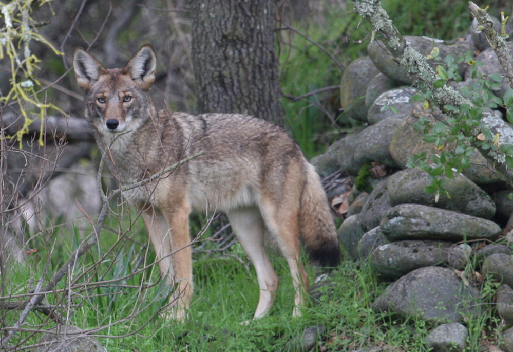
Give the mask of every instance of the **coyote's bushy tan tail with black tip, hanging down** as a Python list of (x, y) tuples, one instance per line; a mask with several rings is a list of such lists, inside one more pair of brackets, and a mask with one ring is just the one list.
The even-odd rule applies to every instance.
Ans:
[(301, 194), (299, 233), (313, 262), (335, 267), (340, 262), (340, 246), (319, 176), (310, 163), (306, 165), (306, 181)]

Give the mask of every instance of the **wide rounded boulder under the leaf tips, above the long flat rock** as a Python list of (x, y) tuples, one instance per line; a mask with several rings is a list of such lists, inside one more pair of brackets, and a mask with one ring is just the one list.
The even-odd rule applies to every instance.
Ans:
[(390, 205), (416, 203), (436, 208), (453, 210), (464, 214), (488, 219), (495, 214), (495, 204), (490, 196), (467, 177), (455, 174), (445, 178), (444, 188), (450, 198), (444, 194), (435, 201), (433, 193), (426, 193), (430, 176), (420, 169), (406, 169), (390, 176), (388, 195)]

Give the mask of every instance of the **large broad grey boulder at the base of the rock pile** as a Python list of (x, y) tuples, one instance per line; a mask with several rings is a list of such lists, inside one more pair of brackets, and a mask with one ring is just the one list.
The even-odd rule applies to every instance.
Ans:
[(465, 286), (451, 269), (425, 267), (390, 285), (371, 307), (375, 312), (387, 312), (402, 319), (440, 323), (476, 317), (479, 305), (479, 290)]

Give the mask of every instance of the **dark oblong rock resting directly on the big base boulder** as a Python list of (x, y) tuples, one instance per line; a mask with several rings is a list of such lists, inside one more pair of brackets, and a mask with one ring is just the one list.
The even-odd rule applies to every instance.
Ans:
[(394, 280), (422, 267), (447, 262), (452, 242), (402, 240), (377, 247), (370, 265), (383, 279)]

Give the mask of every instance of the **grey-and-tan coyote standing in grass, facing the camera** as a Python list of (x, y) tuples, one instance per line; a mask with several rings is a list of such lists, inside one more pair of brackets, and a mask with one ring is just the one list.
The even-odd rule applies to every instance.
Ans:
[[(172, 316), (185, 318), (193, 293), (189, 214), (208, 210), (226, 213), (255, 266), (260, 298), (254, 319), (269, 312), (278, 286), (264, 250), (265, 231), (290, 267), (293, 315), (299, 316), (308, 292), (299, 239), (322, 266), (337, 265), (340, 248), (319, 177), (289, 135), (245, 115), (157, 111), (148, 93), (156, 69), (151, 45), (122, 69), (105, 69), (77, 48), (73, 68), (86, 93), (85, 117), (111, 172), (123, 185), (142, 184), (123, 195), (141, 213), (161, 274), (177, 284)], [(199, 151), (204, 154), (149, 180)]]

